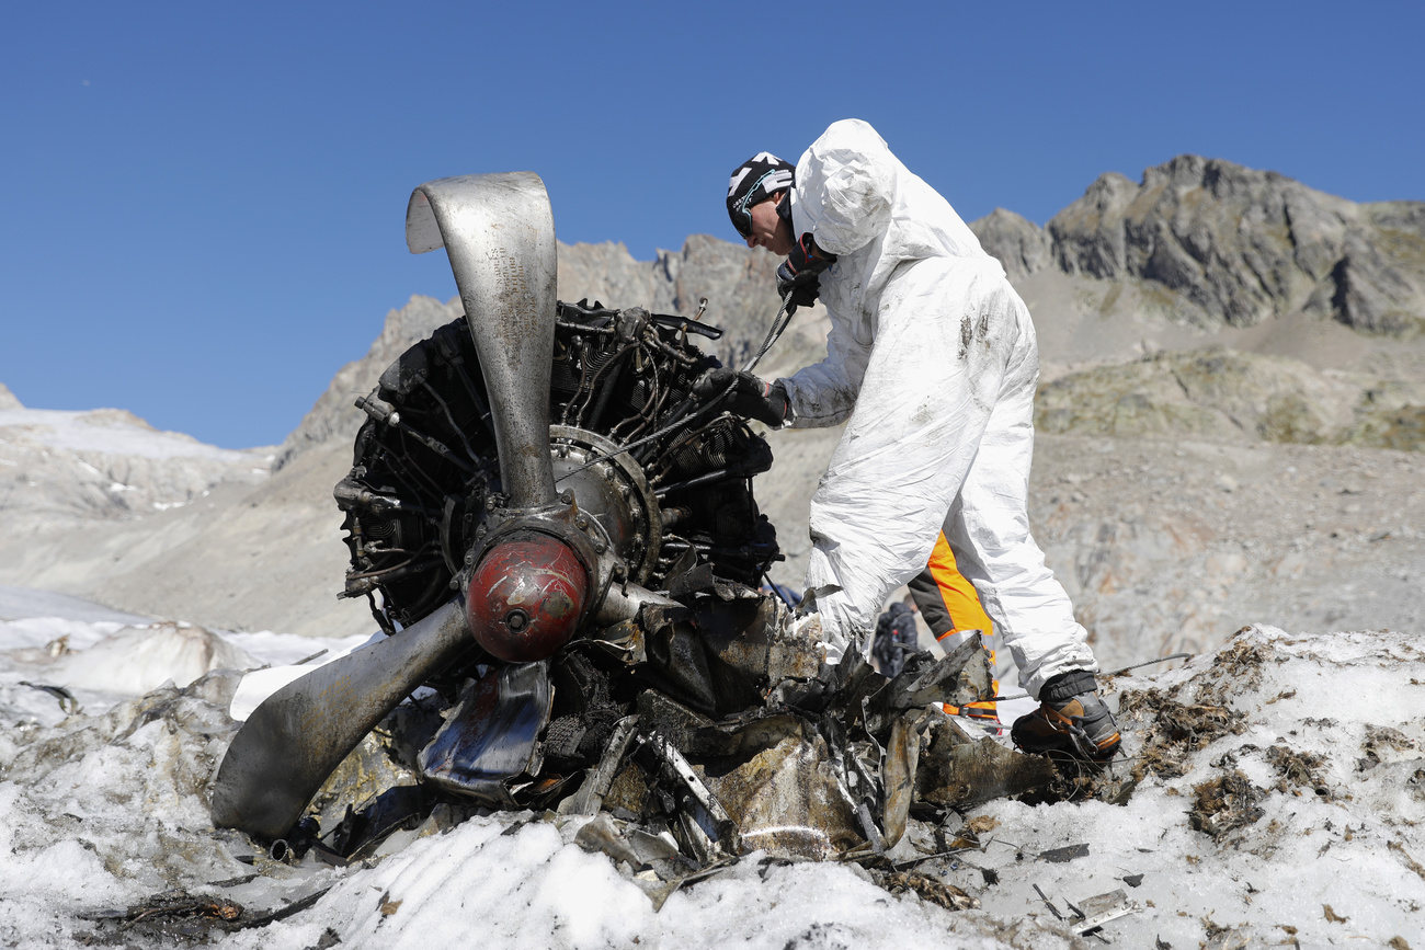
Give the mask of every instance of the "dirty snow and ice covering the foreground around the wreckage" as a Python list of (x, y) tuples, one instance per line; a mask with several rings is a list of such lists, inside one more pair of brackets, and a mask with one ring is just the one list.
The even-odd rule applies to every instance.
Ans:
[[(84, 712), (68, 718), (53, 695), (19, 684), (56, 684), (61, 661), (117, 635), (164, 647), (130, 658), (148, 681), (190, 675), (177, 630), (208, 642), (218, 665), (242, 654), (291, 664), (336, 644), (66, 614), (95, 610), (14, 588), (0, 597), (0, 943), (1067, 947), (1100, 941), (1073, 936), (1073, 907), (1121, 889), (1130, 913), (1100, 931), (1120, 946), (1422, 946), (1425, 654), (1408, 634), (1254, 627), (1178, 669), (1117, 678), (1110, 701), (1123, 704), (1129, 732), (1114, 769), (1139, 773), (1126, 805), (993, 802), (966, 816), (979, 847), (921, 865), (979, 910), (892, 896), (854, 866), (760, 855), (654, 910), (626, 867), (573, 843), (577, 820), (532, 813), (408, 833), (382, 860), (346, 869), (269, 862), (244, 836), (214, 832), (207, 812), (235, 728), (227, 704), (237, 674), (144, 695), (76, 685)], [(61, 637), (70, 652), (51, 655)], [(1174, 731), (1191, 716), (1196, 726)], [(1223, 728), (1203, 725), (1213, 722)], [(1214, 818), (1201, 789), (1226, 776), (1240, 776), (1243, 795)], [(1194, 829), (1194, 815), (1220, 819), (1216, 837)], [(1046, 855), (1084, 843), (1087, 855), (1067, 862)], [(245, 919), (319, 896), (249, 930), (174, 922), (160, 933), (91, 919), (174, 887), (234, 900)]]

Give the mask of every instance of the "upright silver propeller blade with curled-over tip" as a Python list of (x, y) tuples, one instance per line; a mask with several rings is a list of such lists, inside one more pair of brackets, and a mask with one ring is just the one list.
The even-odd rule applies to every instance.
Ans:
[(450, 258), (494, 409), (500, 480), (512, 507), (554, 503), (549, 379), (554, 352), (554, 215), (530, 171), (428, 181), (406, 207), (406, 246)]

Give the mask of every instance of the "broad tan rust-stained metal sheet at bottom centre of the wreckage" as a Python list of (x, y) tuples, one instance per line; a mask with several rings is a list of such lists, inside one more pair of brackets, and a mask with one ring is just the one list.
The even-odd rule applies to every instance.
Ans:
[(789, 731), (775, 745), (742, 762), (714, 759), (700, 768), (737, 823), (744, 853), (825, 860), (859, 845), (855, 808), (826, 741), (794, 716), (778, 725)]

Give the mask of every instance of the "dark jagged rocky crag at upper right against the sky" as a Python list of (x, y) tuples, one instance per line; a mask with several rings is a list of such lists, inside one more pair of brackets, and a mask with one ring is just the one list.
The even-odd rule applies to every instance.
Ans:
[(1425, 205), (1357, 205), (1271, 171), (1178, 155), (1134, 185), (1116, 172), (1047, 225), (1066, 273), (1146, 281), (1204, 326), (1298, 309), (1405, 335), (1425, 310)]

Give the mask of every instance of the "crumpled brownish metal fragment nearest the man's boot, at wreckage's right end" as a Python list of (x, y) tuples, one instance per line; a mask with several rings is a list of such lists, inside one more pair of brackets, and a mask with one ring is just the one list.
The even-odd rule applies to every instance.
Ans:
[(943, 712), (928, 716), (915, 772), (915, 796), (923, 802), (966, 808), (1045, 788), (1054, 778), (1043, 756), (1010, 752), (989, 738), (975, 741)]

